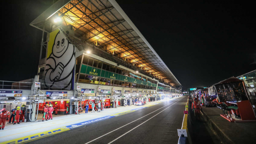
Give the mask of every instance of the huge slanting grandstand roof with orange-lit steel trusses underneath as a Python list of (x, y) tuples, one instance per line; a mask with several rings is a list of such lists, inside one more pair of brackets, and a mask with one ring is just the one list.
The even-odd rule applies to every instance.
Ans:
[(51, 32), (56, 17), (72, 25), (76, 37), (172, 86), (181, 85), (115, 0), (58, 0), (30, 25)]

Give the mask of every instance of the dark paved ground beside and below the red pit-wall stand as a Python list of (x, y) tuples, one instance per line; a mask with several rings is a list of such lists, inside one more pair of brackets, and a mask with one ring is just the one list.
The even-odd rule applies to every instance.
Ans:
[(220, 114), (222, 110), (218, 107), (202, 107), (204, 117), (208, 126), (218, 134), (220, 140), (225, 144), (255, 144), (256, 122), (229, 122)]

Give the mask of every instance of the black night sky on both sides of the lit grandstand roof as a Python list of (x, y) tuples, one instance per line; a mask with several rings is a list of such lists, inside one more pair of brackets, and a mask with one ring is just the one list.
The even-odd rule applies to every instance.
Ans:
[[(116, 0), (183, 90), (256, 69), (255, 11), (233, 1)], [(30, 26), (52, 0), (9, 2), (2, 22), (0, 80), (34, 78), (42, 31)], [(11, 9), (10, 9), (11, 8)]]

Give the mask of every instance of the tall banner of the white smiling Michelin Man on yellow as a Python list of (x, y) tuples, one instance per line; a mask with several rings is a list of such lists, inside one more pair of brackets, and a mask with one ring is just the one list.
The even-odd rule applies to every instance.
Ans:
[(45, 83), (51, 89), (74, 89), (75, 47), (66, 36), (55, 30), (50, 33), (47, 48)]

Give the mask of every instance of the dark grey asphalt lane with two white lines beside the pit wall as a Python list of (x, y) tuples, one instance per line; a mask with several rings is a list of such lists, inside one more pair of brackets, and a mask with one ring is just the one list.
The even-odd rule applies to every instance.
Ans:
[(187, 98), (175, 98), (28, 144), (177, 144)]

